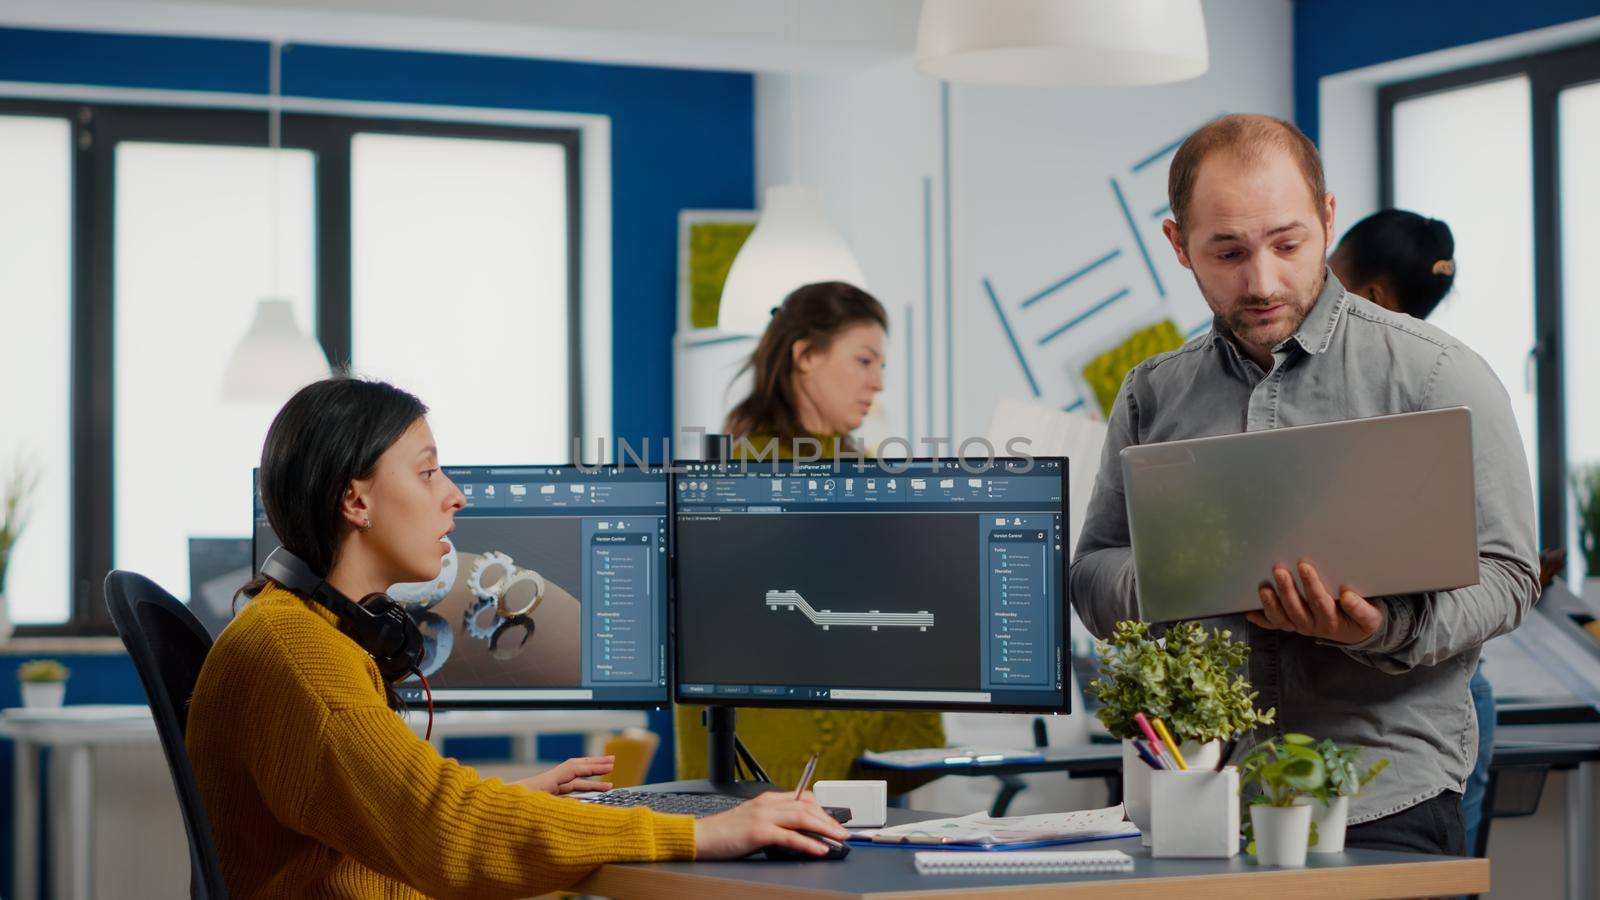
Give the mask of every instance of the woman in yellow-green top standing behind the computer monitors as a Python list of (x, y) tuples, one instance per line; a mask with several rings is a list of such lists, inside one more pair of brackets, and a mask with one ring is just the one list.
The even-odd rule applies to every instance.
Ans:
[[(733, 455), (771, 460), (776, 452), (789, 460), (859, 453), (850, 432), (861, 428), (883, 391), (886, 331), (883, 304), (843, 282), (805, 285), (784, 298), (746, 367), (750, 396), (728, 413)], [(707, 775), (701, 709), (677, 711), (678, 778)], [(944, 746), (938, 713), (752, 708), (739, 711), (738, 729), (778, 785), (798, 781), (810, 753), (821, 756), (816, 778), (835, 780), (850, 778), (866, 749)], [(898, 777), (891, 790), (902, 793), (928, 780)]]

